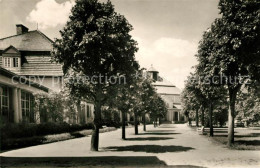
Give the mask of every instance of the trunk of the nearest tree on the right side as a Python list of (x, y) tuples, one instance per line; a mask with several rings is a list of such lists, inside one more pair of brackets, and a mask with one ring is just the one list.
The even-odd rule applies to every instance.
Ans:
[(235, 103), (237, 92), (240, 87), (235, 89), (229, 87), (229, 110), (228, 110), (228, 146), (232, 146), (234, 144), (234, 118), (235, 118)]

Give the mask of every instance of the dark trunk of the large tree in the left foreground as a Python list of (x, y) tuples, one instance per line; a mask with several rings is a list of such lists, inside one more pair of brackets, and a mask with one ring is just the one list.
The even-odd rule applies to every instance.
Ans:
[(99, 142), (99, 127), (100, 127), (100, 116), (101, 116), (101, 101), (98, 100), (95, 103), (94, 111), (94, 130), (92, 131), (91, 137), (91, 151), (98, 151), (98, 142)]

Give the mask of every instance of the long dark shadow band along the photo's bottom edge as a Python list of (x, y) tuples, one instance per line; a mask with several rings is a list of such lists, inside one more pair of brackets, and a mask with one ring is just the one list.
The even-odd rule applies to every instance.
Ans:
[(167, 166), (156, 156), (102, 156), (102, 157), (0, 157), (1, 167), (185, 167), (193, 165)]

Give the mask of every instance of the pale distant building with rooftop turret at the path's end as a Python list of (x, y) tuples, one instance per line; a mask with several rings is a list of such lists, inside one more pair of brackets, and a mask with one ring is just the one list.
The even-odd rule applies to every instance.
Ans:
[(180, 100), (181, 90), (171, 82), (160, 77), (159, 72), (153, 66), (151, 66), (147, 72), (150, 78), (154, 80), (153, 85), (156, 88), (157, 93), (161, 96), (167, 105), (168, 113), (164, 117), (164, 120), (171, 122), (183, 121), (184, 116), (181, 114)]

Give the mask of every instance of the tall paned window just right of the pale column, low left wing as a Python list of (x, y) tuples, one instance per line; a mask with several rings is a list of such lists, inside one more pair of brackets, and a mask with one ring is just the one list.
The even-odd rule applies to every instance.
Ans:
[(26, 122), (34, 122), (34, 98), (32, 94), (22, 91), (22, 116)]

